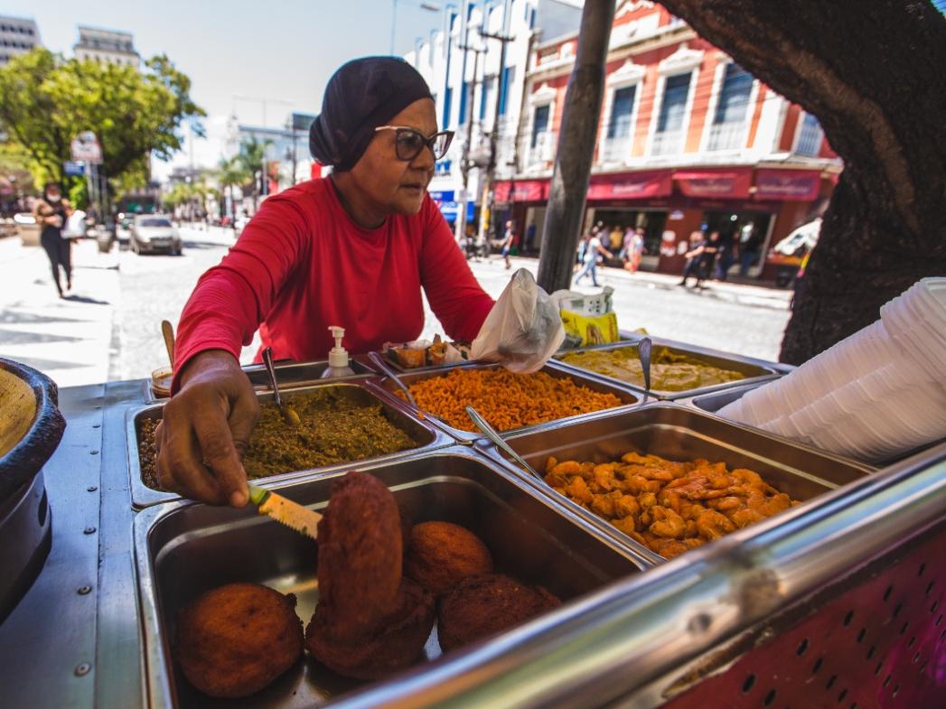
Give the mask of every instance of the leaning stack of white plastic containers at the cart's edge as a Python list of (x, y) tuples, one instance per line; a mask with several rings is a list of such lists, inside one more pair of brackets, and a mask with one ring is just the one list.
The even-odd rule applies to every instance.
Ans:
[(869, 462), (946, 438), (946, 278), (921, 280), (881, 320), (718, 413)]

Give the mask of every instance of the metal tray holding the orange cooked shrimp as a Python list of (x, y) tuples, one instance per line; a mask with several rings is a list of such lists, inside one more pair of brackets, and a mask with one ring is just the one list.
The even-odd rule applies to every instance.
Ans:
[[(550, 456), (559, 461), (595, 463), (617, 460), (628, 451), (677, 461), (707, 458), (710, 462), (725, 462), (730, 470), (753, 470), (780, 492), (803, 502), (872, 472), (871, 468), (853, 460), (669, 403), (625, 412), (590, 414), (583, 421), (569, 424), (543, 425), (532, 432), (510, 436), (506, 442), (540, 474), (545, 472)], [(522, 471), (490, 441), (477, 441), (475, 446), (552, 495), (589, 524), (622, 539), (639, 554), (662, 559), (603, 518), (554, 492), (544, 480)]]

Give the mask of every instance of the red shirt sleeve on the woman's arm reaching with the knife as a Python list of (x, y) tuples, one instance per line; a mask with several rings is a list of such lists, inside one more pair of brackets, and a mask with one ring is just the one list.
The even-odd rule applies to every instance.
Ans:
[(291, 199), (267, 199), (219, 266), (204, 273), (178, 324), (174, 382), (207, 350), (239, 359), (306, 251), (306, 219)]

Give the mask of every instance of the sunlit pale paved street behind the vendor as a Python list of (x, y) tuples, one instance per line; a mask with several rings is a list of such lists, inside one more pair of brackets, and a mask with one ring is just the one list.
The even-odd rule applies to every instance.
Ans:
[[(233, 243), (222, 229), (182, 230), (184, 255), (102, 254), (93, 241), (74, 248), (73, 293), (58, 298), (44, 252), (19, 238), (0, 239), (0, 356), (50, 374), (61, 387), (133, 379), (166, 365), (161, 320), (175, 324), (201, 273), (217, 264)], [(512, 270), (497, 256), (471, 263), (494, 297)], [(513, 259), (513, 268), (537, 267)], [(599, 269), (601, 285), (615, 289), (623, 329), (684, 340), (765, 359), (778, 356), (788, 320), (788, 291), (751, 285), (710, 284), (702, 291), (676, 285), (677, 278)], [(577, 290), (592, 293), (589, 281)], [(342, 323), (343, 324), (343, 323)], [(443, 332), (428, 313), (424, 337)], [(245, 348), (249, 361), (255, 346)]]

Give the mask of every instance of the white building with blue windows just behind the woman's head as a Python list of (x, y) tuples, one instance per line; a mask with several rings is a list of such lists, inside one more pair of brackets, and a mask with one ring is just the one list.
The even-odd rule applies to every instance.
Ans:
[(502, 163), (515, 159), (534, 42), (538, 37), (552, 41), (568, 36), (580, 21), (579, 0), (462, 2), (459, 8), (447, 6), (444, 29), (431, 32), (428, 41), (417, 43), (405, 56), (427, 80), (441, 127), (456, 132), (429, 185), (455, 228), (458, 215), (464, 215), (460, 229), (472, 225), (485, 232), (487, 166), (491, 152), (497, 172)]

